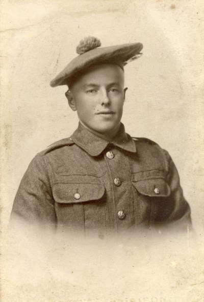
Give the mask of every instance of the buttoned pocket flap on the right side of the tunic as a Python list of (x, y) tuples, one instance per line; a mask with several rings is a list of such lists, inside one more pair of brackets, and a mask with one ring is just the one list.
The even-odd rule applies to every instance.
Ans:
[(170, 187), (164, 179), (146, 179), (133, 182), (133, 185), (142, 195), (150, 197), (167, 197)]

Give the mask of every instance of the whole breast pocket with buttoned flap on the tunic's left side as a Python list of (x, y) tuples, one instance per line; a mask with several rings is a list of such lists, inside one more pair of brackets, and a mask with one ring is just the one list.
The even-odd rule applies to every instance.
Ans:
[(106, 225), (106, 191), (97, 179), (61, 182), (53, 188), (58, 224), (71, 229), (100, 229)]

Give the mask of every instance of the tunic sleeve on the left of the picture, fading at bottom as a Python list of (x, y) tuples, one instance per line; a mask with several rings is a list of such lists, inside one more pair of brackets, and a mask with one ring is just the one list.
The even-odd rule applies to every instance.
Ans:
[(25, 172), (11, 213), (14, 221), (55, 224), (54, 199), (43, 156), (37, 155)]

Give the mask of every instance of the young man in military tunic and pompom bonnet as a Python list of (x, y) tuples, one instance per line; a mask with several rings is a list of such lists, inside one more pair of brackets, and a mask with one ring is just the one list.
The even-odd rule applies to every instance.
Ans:
[(79, 56), (50, 83), (68, 85), (79, 127), (32, 160), (13, 219), (98, 234), (164, 225), (187, 230), (190, 208), (169, 154), (132, 138), (120, 122), (123, 67), (141, 50), (140, 43), (100, 48), (94, 37), (80, 42)]

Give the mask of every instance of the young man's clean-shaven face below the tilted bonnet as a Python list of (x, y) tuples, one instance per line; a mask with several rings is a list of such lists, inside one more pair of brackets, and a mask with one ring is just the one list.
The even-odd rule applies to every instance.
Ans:
[(84, 126), (112, 136), (122, 117), (124, 72), (116, 64), (97, 64), (73, 84), (67, 98)]

